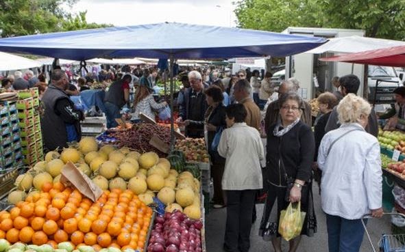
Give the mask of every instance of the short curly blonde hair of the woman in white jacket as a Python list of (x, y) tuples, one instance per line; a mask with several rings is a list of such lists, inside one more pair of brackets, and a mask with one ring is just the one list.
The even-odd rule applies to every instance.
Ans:
[(355, 94), (347, 94), (347, 96), (339, 102), (337, 112), (341, 124), (360, 122), (361, 115), (370, 115), (371, 105), (367, 100), (364, 100)]

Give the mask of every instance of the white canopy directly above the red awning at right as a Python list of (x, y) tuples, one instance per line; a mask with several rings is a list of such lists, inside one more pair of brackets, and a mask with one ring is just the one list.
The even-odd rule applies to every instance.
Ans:
[(325, 44), (318, 46), (306, 53), (360, 53), (363, 51), (375, 50), (380, 48), (388, 48), (392, 46), (403, 46), (404, 41), (383, 40), (381, 38), (367, 38), (360, 36), (349, 36), (331, 38)]

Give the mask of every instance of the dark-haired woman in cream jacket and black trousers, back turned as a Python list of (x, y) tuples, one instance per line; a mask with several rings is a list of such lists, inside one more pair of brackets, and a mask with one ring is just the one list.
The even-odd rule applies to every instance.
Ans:
[(231, 104), (225, 114), (228, 128), (223, 130), (218, 145), (219, 155), (226, 158), (222, 178), (227, 205), (223, 249), (247, 252), (255, 195), (263, 186), (260, 160), (265, 150), (258, 130), (245, 123), (243, 104)]

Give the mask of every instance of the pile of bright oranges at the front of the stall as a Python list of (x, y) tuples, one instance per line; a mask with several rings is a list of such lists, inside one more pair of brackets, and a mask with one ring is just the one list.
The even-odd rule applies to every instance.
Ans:
[(143, 249), (152, 210), (132, 191), (104, 191), (93, 203), (77, 189), (45, 183), (14, 208), (0, 212), (0, 238), (10, 243), (72, 242), (92, 246)]

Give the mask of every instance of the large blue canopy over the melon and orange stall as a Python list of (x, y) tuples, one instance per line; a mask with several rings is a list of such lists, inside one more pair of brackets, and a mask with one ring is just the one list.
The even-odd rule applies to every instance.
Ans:
[(217, 59), (295, 55), (326, 41), (269, 31), (158, 23), (2, 38), (0, 51), (80, 61), (97, 57)]

